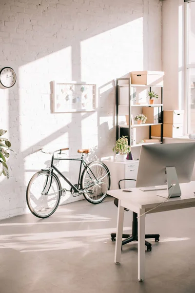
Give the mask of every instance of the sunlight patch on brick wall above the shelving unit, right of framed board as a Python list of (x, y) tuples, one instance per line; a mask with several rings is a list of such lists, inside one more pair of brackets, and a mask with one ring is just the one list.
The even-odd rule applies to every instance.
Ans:
[[(129, 42), (127, 39), (129, 38)], [(84, 40), (81, 79), (103, 84), (143, 67), (143, 18)]]

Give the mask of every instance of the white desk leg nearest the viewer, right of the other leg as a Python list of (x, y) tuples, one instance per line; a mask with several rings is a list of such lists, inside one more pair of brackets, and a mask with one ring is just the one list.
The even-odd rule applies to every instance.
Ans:
[[(138, 216), (143, 214), (145, 209), (139, 209)], [(138, 218), (138, 281), (145, 278), (145, 215)]]

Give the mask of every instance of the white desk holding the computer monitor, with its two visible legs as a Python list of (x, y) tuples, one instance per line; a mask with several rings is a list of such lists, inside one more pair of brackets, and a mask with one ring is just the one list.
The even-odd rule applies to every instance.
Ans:
[[(149, 213), (185, 209), (195, 207), (195, 181), (180, 184), (181, 197), (168, 199), (160, 207)], [(118, 198), (117, 214), (117, 239), (115, 247), (115, 263), (120, 263), (121, 242), (124, 219), (124, 208), (135, 211), (141, 215), (149, 209), (154, 208), (165, 198), (157, 196), (156, 191), (141, 191), (139, 188), (131, 188), (132, 192), (125, 192), (122, 189), (108, 190), (108, 194)], [(159, 192), (159, 191), (158, 191)], [(162, 193), (165, 190), (161, 190)], [(145, 216), (138, 218), (138, 280), (143, 281), (145, 278)]]

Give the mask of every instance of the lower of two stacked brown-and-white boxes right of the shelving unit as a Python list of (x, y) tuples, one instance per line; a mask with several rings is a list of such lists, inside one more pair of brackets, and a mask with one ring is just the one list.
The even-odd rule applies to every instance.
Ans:
[[(160, 136), (160, 125), (151, 126), (151, 128), (151, 136)], [(163, 124), (163, 137), (179, 137), (182, 135), (182, 124)]]

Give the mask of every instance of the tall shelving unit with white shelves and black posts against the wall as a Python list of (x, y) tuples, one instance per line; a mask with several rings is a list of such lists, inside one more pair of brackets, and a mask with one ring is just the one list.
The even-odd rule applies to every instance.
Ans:
[[(159, 81), (159, 80), (158, 80)], [(135, 81), (135, 82), (141, 82), (139, 80)], [(147, 82), (147, 80), (145, 80), (145, 82)], [(157, 81), (155, 81), (157, 83)], [(158, 100), (155, 99), (154, 103), (156, 104), (149, 104), (149, 101), (145, 96), (146, 96), (146, 91), (148, 90), (155, 90), (157, 91), (158, 94)], [(159, 92), (159, 93), (158, 93)], [(148, 97), (148, 96), (147, 96)], [(131, 84), (131, 78), (118, 78), (117, 79), (117, 88), (116, 88), (116, 100), (117, 100), (117, 139), (119, 138), (119, 136), (121, 135), (128, 135), (128, 142), (130, 144), (131, 141), (140, 141), (141, 136), (143, 136), (144, 132), (146, 135), (146, 133), (148, 132), (149, 138), (151, 138), (151, 126), (156, 126), (161, 128), (160, 131), (160, 142), (159, 143), (163, 143), (162, 141), (162, 126), (163, 123), (150, 123), (150, 122), (163, 122), (162, 118), (163, 115), (161, 115), (160, 117), (160, 112), (163, 109), (163, 82), (159, 82), (159, 84)], [(127, 105), (119, 105), (119, 101), (124, 104)], [(136, 104), (136, 103), (143, 103), (143, 104)], [(134, 104), (135, 103), (135, 104)], [(191, 102), (192, 103), (192, 102)], [(121, 120), (121, 117), (119, 116), (127, 116), (129, 114), (131, 114), (131, 118), (133, 118), (132, 116), (135, 116), (137, 113), (140, 113), (143, 109), (151, 107), (152, 109), (156, 109), (158, 110), (158, 108), (160, 109), (158, 114), (159, 116), (159, 120), (148, 120), (145, 124), (137, 124), (137, 121), (134, 122), (132, 121), (133, 125), (127, 125), (125, 123), (124, 117), (123, 120)], [(151, 109), (151, 111), (152, 111)], [(155, 112), (156, 112), (155, 110)], [(149, 109), (148, 109), (149, 111)], [(153, 111), (152, 111), (153, 112)], [(133, 115), (132, 115), (133, 114)], [(147, 116), (147, 115), (146, 115)], [(129, 117), (130, 118), (130, 117)], [(130, 119), (129, 119), (130, 120)], [(120, 121), (120, 123), (118, 124), (118, 122)], [(130, 122), (130, 121), (129, 121)], [(128, 121), (127, 121), (128, 123)], [(160, 126), (159, 126), (160, 125)], [(144, 127), (144, 126), (149, 126), (146, 128), (140, 128), (140, 130), (137, 130), (137, 127)], [(136, 140), (137, 137), (137, 140)], [(133, 140), (132, 140), (133, 139)], [(159, 144), (158, 143), (158, 144)], [(139, 143), (139, 144), (135, 144), (135, 146), (132, 147), (136, 147), (136, 146), (143, 146), (143, 145), (151, 145), (151, 144), (156, 144), (155, 142), (150, 142), (148, 141), (148, 143)]]

